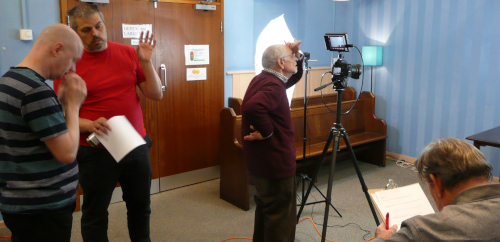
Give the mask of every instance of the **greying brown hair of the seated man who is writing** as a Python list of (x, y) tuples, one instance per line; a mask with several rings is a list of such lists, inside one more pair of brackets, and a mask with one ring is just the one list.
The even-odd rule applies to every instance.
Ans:
[(438, 139), (427, 145), (417, 158), (420, 180), (431, 184), (430, 174), (441, 179), (445, 188), (453, 188), (473, 177), (492, 179), (492, 166), (476, 147), (460, 139)]

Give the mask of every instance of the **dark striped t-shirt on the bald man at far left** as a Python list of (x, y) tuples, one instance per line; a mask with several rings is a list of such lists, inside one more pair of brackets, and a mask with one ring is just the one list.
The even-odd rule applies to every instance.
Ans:
[(56, 161), (44, 141), (68, 132), (45, 79), (13, 67), (0, 78), (0, 211), (38, 213), (76, 199), (77, 162)]

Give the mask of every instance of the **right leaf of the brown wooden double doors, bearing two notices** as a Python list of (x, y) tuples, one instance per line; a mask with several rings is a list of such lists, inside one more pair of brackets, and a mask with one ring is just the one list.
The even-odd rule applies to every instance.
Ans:
[[(156, 10), (157, 62), (165, 64), (167, 73), (158, 105), (161, 190), (218, 177), (210, 167), (219, 164), (219, 114), (224, 106), (223, 5), (202, 11), (194, 9), (196, 3), (158, 2)], [(209, 45), (210, 64), (186, 66), (185, 45)], [(206, 68), (207, 80), (187, 81), (186, 69), (194, 67)]]

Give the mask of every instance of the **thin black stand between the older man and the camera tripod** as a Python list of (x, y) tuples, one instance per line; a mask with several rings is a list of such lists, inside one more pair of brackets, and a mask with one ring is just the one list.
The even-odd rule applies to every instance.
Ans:
[[(303, 138), (303, 155), (302, 155), (302, 160), (305, 162), (306, 160), (306, 147), (307, 147), (307, 74), (309, 73), (309, 58), (311, 57), (311, 54), (309, 52), (304, 52), (304, 64), (305, 64), (305, 78), (304, 78), (304, 138)], [(306, 198), (306, 196), (304, 195), (305, 193), (305, 184), (306, 184), (306, 181), (308, 182), (311, 182), (311, 178), (307, 175), (307, 174), (304, 174), (304, 173), (300, 173), (298, 175), (298, 179), (297, 179), (297, 184), (296, 184), (296, 188), (298, 189), (300, 187), (300, 183), (302, 183), (302, 199), (301, 199), (301, 204), (298, 205), (298, 206), (302, 206), (303, 203), (306, 202), (307, 199), (304, 199)], [(326, 197), (325, 195), (323, 195), (323, 193), (321, 192), (321, 190), (319, 190), (319, 188), (314, 185), (314, 183), (310, 183), (314, 186), (314, 188), (316, 188), (316, 190), (321, 194), (321, 196), (323, 196), (323, 198), (326, 200)], [(316, 203), (322, 203), (322, 202), (325, 202), (325, 201), (317, 201), (317, 202), (312, 202), (312, 203), (307, 203), (305, 205), (311, 205), (311, 204), (316, 204)], [(332, 206), (332, 208), (335, 210), (335, 212), (337, 212), (337, 214), (342, 217), (342, 215), (339, 213), (339, 211), (337, 211), (337, 209), (332, 205), (332, 203), (328, 202), (328, 204), (330, 206)], [(300, 215), (300, 213), (299, 213)]]

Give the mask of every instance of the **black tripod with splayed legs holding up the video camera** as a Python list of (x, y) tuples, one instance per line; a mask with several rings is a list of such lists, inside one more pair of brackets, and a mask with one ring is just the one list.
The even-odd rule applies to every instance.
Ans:
[[(368, 201), (368, 204), (370, 205), (370, 209), (372, 211), (373, 218), (375, 218), (376, 226), (378, 226), (379, 225), (379, 221), (378, 221), (377, 213), (375, 212), (375, 208), (374, 208), (373, 203), (372, 203), (372, 201), (370, 199), (370, 195), (368, 194), (368, 187), (366, 186), (365, 181), (363, 179), (363, 175), (361, 174), (361, 170), (359, 169), (358, 162), (356, 160), (356, 156), (354, 155), (354, 151), (352, 149), (351, 143), (349, 142), (349, 137), (347, 136), (347, 132), (344, 129), (344, 127), (342, 127), (342, 124), (340, 123), (340, 116), (341, 116), (341, 113), (342, 113), (342, 95), (343, 95), (343, 93), (345, 91), (345, 87), (346, 87), (345, 80), (334, 80), (332, 83), (334, 85), (335, 91), (337, 91), (337, 115), (336, 115), (336, 121), (333, 124), (332, 129), (330, 130), (330, 134), (328, 135), (328, 140), (326, 141), (325, 148), (323, 149), (323, 153), (321, 154), (321, 157), (318, 160), (318, 162), (316, 162), (316, 167), (315, 167), (315, 171), (314, 171), (314, 177), (311, 179), (311, 182), (309, 183), (309, 187), (307, 188), (307, 193), (306, 193), (305, 197), (303, 198), (302, 204), (300, 205), (300, 209), (299, 209), (299, 212), (297, 214), (297, 222), (300, 219), (300, 215), (302, 213), (302, 210), (304, 209), (304, 205), (306, 205), (305, 202), (307, 201), (307, 198), (309, 197), (309, 194), (311, 192), (311, 188), (313, 186), (315, 186), (314, 183), (315, 183), (315, 180), (316, 180), (316, 178), (318, 176), (318, 172), (319, 172), (319, 169), (321, 167), (321, 163), (325, 159), (326, 153), (328, 153), (328, 147), (330, 146), (330, 143), (332, 142), (332, 139), (335, 137), (335, 140), (333, 142), (333, 147), (332, 147), (332, 160), (331, 160), (331, 163), (330, 163), (330, 174), (328, 176), (328, 190), (327, 190), (327, 195), (326, 195), (325, 201), (324, 201), (325, 203), (331, 205), (331, 200), (332, 200), (332, 184), (333, 184), (333, 171), (334, 171), (334, 168), (335, 168), (335, 161), (337, 159), (337, 151), (338, 151), (338, 148), (339, 148), (339, 139), (340, 139), (340, 136), (342, 136), (344, 138), (344, 142), (345, 142), (345, 144), (347, 146), (347, 149), (349, 150), (349, 153), (351, 154), (352, 162), (353, 162), (354, 168), (356, 169), (356, 174), (358, 175), (359, 182), (361, 183), (361, 187), (363, 189), (363, 192), (365, 193), (366, 200)], [(315, 91), (323, 89), (323, 88), (325, 88), (326, 86), (328, 86), (328, 85), (330, 85), (332, 83), (329, 83), (327, 85), (324, 85), (324, 86), (321, 86), (319, 88), (316, 88)], [(321, 241), (322, 242), (324, 242), (325, 239), (326, 239), (326, 230), (328, 228), (328, 213), (329, 213), (329, 211), (330, 211), (330, 206), (326, 205), (325, 206), (324, 221), (323, 221), (323, 233), (322, 233), (322, 237), (321, 237)]]

